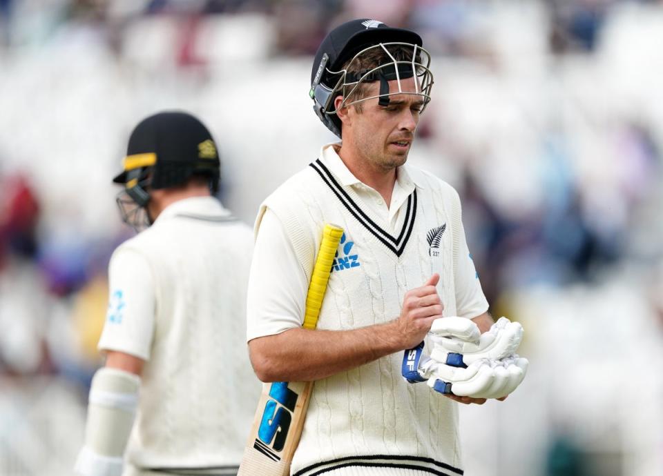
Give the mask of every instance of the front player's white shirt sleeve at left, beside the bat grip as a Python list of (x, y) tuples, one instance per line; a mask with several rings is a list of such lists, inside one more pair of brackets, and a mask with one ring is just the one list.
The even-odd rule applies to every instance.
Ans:
[(308, 282), (276, 215), (260, 221), (247, 290), (247, 341), (301, 327)]

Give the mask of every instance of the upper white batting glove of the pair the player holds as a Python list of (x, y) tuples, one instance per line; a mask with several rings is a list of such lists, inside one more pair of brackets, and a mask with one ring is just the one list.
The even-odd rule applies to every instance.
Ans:
[(442, 364), (470, 366), (481, 359), (500, 360), (515, 355), (523, 339), (523, 326), (500, 317), (486, 333), (463, 317), (435, 319), (430, 328), (430, 357)]

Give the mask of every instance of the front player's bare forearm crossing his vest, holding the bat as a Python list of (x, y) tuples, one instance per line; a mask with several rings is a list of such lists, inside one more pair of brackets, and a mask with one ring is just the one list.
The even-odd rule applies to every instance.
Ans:
[(262, 381), (323, 379), (404, 348), (397, 321), (352, 330), (293, 328), (249, 342)]

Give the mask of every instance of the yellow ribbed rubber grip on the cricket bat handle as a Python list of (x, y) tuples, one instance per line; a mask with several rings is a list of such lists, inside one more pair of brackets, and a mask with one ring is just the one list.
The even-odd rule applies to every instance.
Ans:
[(334, 255), (336, 255), (341, 236), (343, 236), (343, 228), (333, 224), (325, 225), (323, 240), (320, 242), (320, 250), (318, 250), (313, 275), (311, 275), (309, 292), (306, 294), (306, 313), (303, 324), (305, 329), (315, 329), (318, 324), (318, 315), (323, 306), (327, 281), (332, 272)]

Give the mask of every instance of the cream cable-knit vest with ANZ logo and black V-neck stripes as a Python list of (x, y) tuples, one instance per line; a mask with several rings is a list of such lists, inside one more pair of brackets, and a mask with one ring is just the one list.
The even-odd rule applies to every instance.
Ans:
[[(454, 248), (463, 234), (459, 197), (436, 177), (412, 172), (425, 186), (417, 186), (403, 205), (403, 225), (392, 235), (321, 161), (265, 200), (262, 209), (280, 219), (308, 278), (323, 225), (331, 222), (345, 230), (319, 329), (346, 330), (395, 319), (405, 292), (423, 285), (433, 272), (441, 276), (444, 315), (456, 315)], [(390, 475), (462, 473), (456, 404), (425, 383), (407, 384), (401, 377), (402, 357), (397, 353), (316, 381), (293, 474), (332, 468), (343, 468), (343, 474), (385, 474), (376, 468), (392, 468)]]

